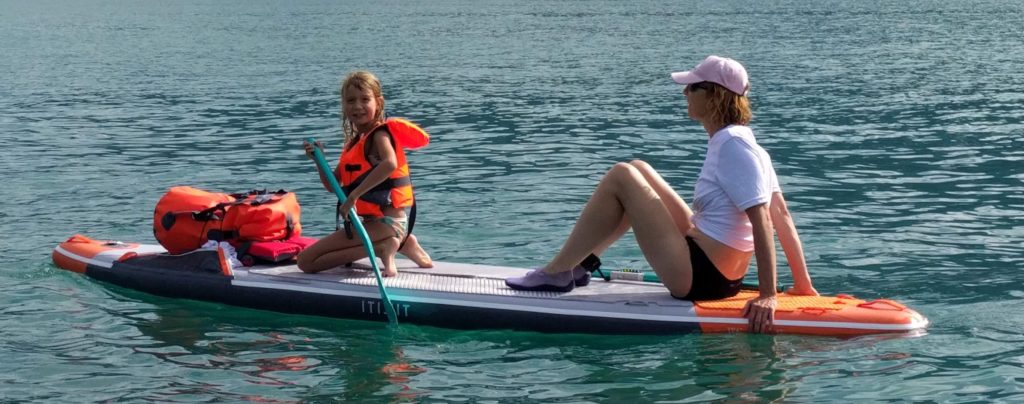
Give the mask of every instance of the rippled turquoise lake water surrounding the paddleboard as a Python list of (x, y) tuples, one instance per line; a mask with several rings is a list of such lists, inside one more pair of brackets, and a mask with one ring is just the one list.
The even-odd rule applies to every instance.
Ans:
[[(1024, 401), (1024, 6), (903, 3), (4, 1), (0, 401)], [(325, 234), (301, 142), (337, 153), (339, 81), (367, 69), (433, 135), (410, 154), (433, 258), (541, 265), (614, 162), (689, 200), (707, 135), (669, 73), (713, 53), (751, 73), (817, 289), (926, 334), (389, 329), (50, 262), (79, 232), (154, 242), (179, 184), (294, 190)], [(603, 259), (645, 265), (629, 237)]]

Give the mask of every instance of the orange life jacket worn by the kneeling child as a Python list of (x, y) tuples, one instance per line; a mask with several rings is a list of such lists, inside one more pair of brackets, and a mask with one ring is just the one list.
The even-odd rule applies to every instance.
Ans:
[(390, 118), (360, 134), (350, 147), (341, 153), (338, 161), (338, 172), (341, 174), (341, 184), (345, 194), (351, 193), (373, 171), (375, 165), (370, 164), (370, 152), (373, 148), (370, 141), (373, 133), (384, 128), (391, 134), (391, 145), (398, 167), (388, 175), (388, 178), (374, 186), (355, 201), (355, 212), (359, 216), (384, 216), (386, 207), (408, 208), (413, 206), (413, 182), (409, 178), (409, 164), (406, 161), (404, 149), (417, 149), (430, 142), (430, 135), (416, 124), (400, 118)]

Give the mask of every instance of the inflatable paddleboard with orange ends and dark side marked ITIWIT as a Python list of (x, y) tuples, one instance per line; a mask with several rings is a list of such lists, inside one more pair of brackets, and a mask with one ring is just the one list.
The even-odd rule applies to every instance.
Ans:
[[(368, 262), (306, 274), (295, 265), (231, 267), (220, 250), (172, 256), (160, 245), (76, 235), (52, 254), (60, 268), (154, 295), (284, 313), (387, 321)], [(384, 285), (398, 322), (458, 329), (659, 333), (746, 331), (740, 315), (757, 290), (707, 302), (673, 299), (658, 283), (594, 278), (559, 294), (514, 290), (505, 278), (527, 269), (399, 260)], [(860, 335), (914, 332), (928, 319), (891, 300), (778, 295), (775, 332)]]

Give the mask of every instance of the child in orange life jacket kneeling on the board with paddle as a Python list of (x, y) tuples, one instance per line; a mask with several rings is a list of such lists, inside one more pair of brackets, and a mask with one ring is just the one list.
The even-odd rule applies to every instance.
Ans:
[[(404, 133), (422, 135), (416, 140), (426, 144), (426, 132), (403, 120), (384, 120), (384, 96), (381, 84), (369, 72), (349, 74), (341, 84), (341, 126), (344, 145), (333, 175), (344, 187), (346, 198), (341, 215), (346, 221), (352, 207), (362, 220), (374, 243), (374, 253), (384, 261), (384, 276), (395, 276), (395, 253), (401, 253), (421, 268), (433, 266), (430, 256), (413, 234), (407, 234), (406, 208), (413, 206), (413, 187), (409, 181), (409, 166), (402, 145)], [(408, 141), (413, 143), (414, 141)], [(318, 143), (318, 142), (317, 142)], [(313, 147), (322, 144), (303, 142), (306, 156), (312, 159)], [(329, 191), (326, 173), (319, 172), (321, 182)], [(347, 227), (347, 226), (346, 226)], [(403, 242), (404, 241), (404, 242)], [(310, 245), (298, 257), (303, 272), (315, 273), (367, 257), (366, 246), (358, 235), (339, 230)]]

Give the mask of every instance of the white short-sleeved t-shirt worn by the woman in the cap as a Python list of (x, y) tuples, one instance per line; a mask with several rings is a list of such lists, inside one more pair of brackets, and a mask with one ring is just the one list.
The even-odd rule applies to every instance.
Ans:
[(771, 201), (779, 192), (771, 158), (751, 128), (732, 125), (708, 141), (708, 156), (693, 187), (693, 225), (712, 238), (754, 251), (754, 229), (746, 209)]

